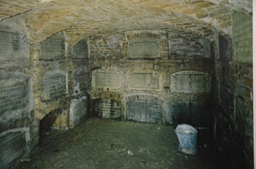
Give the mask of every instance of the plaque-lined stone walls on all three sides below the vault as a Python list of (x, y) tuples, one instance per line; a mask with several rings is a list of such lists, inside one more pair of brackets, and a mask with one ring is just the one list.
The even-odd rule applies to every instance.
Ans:
[(213, 128), (218, 153), (250, 168), (252, 49), (234, 31), (245, 59), (217, 32), (121, 31), (69, 44), (59, 31), (31, 43), (18, 19), (1, 21), (0, 166), (25, 159), (39, 143), (40, 121), (58, 111), (49, 127), (59, 130), (89, 117)]

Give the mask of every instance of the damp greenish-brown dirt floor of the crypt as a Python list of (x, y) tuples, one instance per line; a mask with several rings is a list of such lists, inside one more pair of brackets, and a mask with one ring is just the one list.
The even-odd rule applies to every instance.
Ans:
[(198, 154), (178, 151), (170, 125), (88, 119), (21, 162), (18, 168), (220, 168), (209, 146)]

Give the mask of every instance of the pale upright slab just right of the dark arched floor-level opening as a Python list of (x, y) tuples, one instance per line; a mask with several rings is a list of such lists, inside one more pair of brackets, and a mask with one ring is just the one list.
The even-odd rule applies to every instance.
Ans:
[(86, 105), (87, 105), (86, 97), (72, 100), (70, 105), (70, 117), (69, 117), (70, 127), (75, 127), (86, 120), (86, 114), (87, 114)]

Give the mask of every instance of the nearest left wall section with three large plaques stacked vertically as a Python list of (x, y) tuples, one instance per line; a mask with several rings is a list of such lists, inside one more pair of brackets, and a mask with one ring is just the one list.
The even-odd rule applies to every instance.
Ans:
[(30, 150), (33, 109), (26, 28), (12, 18), (0, 23), (0, 168)]

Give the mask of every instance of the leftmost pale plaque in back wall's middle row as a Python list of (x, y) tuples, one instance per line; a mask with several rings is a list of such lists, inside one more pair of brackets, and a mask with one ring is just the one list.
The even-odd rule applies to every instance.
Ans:
[(91, 73), (91, 85), (93, 88), (108, 87), (118, 89), (121, 87), (121, 76), (118, 71), (94, 71)]

